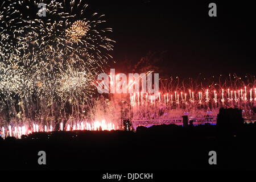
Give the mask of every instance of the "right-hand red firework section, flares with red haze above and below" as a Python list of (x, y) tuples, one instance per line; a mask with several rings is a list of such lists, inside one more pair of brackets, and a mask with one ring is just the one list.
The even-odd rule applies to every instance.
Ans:
[(182, 82), (178, 78), (161, 79), (156, 100), (148, 93), (130, 94), (133, 121), (139, 126), (143, 121), (179, 120), (182, 115), (205, 121), (207, 115), (216, 118), (220, 107), (242, 109), (245, 119), (255, 121), (255, 77), (245, 78), (246, 81), (242, 81), (241, 77), (233, 75), (229, 79), (220, 77), (219, 82), (206, 78)]

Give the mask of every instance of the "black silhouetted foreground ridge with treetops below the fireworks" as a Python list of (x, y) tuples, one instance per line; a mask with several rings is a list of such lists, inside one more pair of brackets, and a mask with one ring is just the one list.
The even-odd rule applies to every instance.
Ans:
[[(55, 131), (34, 133), (22, 139), (0, 138), (0, 168), (256, 169), (256, 123), (241, 125), (239, 115), (236, 110), (221, 110), (217, 126), (159, 125), (138, 127), (137, 132)], [(46, 165), (38, 164), (39, 151), (46, 152)], [(216, 151), (217, 165), (208, 163), (209, 151)]]

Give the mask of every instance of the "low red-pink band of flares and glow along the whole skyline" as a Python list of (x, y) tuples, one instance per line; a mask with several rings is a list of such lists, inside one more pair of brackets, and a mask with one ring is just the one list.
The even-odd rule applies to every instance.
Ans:
[[(221, 107), (241, 109), (245, 122), (254, 122), (255, 79), (246, 83), (240, 80), (238, 77), (235, 81), (224, 81), (222, 84), (210, 82), (207, 85), (196, 82), (180, 84), (170, 79), (160, 79), (160, 89), (155, 99), (147, 92), (102, 94), (94, 99), (93, 104), (75, 108), (69, 117), (64, 119), (60, 116), (58, 125), (54, 119), (24, 119), (23, 122), (1, 125), (0, 134), (3, 138), (21, 138), (22, 135), (36, 132), (122, 130), (122, 119), (130, 119), (134, 129), (170, 123), (182, 125), (183, 115), (187, 115), (195, 124), (214, 124)], [(134, 80), (127, 85), (132, 87), (139, 81)], [(112, 82), (109, 84), (113, 86)]]

